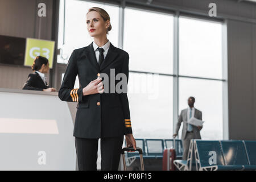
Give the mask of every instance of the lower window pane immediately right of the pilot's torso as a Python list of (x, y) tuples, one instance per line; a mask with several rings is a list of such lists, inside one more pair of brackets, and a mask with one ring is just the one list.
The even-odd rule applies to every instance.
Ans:
[(127, 95), (136, 138), (172, 136), (173, 77), (130, 72)]

